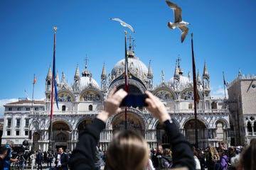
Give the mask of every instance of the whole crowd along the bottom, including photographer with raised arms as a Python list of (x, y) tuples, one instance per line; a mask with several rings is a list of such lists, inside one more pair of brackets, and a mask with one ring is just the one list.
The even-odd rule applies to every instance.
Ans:
[(11, 157), (12, 144), (7, 143), (0, 148), (0, 170), (10, 169), (11, 162), (18, 164), (18, 169), (24, 169), (26, 163), (31, 169), (42, 169), (45, 163), (49, 169), (56, 170), (100, 170), (102, 166), (105, 170), (256, 170), (256, 139), (245, 147), (226, 149), (221, 143), (218, 147), (208, 146), (206, 149), (192, 147), (172, 122), (164, 103), (149, 91), (146, 95), (146, 108), (163, 124), (171, 148), (159, 145), (156, 149), (149, 149), (144, 137), (132, 130), (115, 132), (105, 152), (97, 147), (107, 120), (121, 111), (119, 105), (127, 96), (123, 89), (113, 89), (105, 101), (104, 110), (85, 127), (72, 153), (59, 147), (56, 152), (41, 152), (39, 149), (28, 155)]

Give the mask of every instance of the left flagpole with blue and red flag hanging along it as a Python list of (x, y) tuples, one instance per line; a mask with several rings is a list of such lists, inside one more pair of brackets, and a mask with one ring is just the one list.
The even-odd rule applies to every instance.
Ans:
[(50, 98), (50, 132), (49, 132), (49, 150), (53, 150), (52, 148), (52, 140), (51, 135), (53, 132), (53, 90), (54, 90), (54, 79), (55, 79), (55, 45), (56, 45), (56, 30), (57, 27), (53, 28), (54, 30), (54, 42), (53, 42), (53, 76), (52, 76), (52, 86), (51, 86), (51, 98)]

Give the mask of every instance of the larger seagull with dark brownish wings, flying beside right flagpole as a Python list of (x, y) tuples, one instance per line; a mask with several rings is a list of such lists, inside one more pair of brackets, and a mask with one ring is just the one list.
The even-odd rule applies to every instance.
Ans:
[(172, 3), (171, 1), (167, 1), (167, 0), (166, 0), (166, 4), (174, 11), (174, 18), (175, 18), (174, 23), (168, 22), (168, 26), (171, 29), (178, 27), (181, 30), (181, 42), (183, 42), (183, 40), (185, 40), (185, 38), (186, 38), (186, 35), (188, 34), (187, 25), (189, 23), (182, 21), (181, 7), (179, 7), (176, 4)]

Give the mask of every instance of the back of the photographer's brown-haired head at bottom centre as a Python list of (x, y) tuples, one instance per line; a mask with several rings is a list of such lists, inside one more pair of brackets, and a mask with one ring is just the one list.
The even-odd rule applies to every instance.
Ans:
[(112, 170), (143, 170), (149, 162), (149, 148), (136, 132), (117, 132), (107, 149), (107, 166)]

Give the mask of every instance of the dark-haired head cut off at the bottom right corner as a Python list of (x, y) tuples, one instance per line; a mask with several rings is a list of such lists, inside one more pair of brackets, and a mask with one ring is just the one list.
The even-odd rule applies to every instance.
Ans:
[[(255, 140), (256, 141), (256, 140)], [(240, 165), (245, 170), (255, 170), (256, 169), (256, 142), (250, 142), (240, 156)]]

